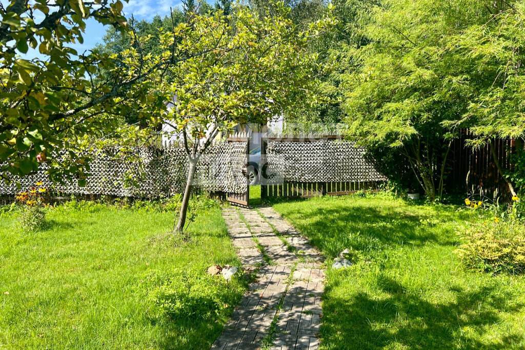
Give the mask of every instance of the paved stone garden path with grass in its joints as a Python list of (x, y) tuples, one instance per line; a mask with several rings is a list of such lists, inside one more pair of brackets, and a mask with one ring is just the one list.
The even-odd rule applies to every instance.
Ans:
[(317, 349), (319, 251), (272, 208), (227, 208), (223, 216), (243, 267), (257, 277), (212, 349)]

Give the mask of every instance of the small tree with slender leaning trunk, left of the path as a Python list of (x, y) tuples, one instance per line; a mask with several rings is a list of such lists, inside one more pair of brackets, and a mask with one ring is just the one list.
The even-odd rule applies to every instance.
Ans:
[(170, 65), (154, 84), (155, 93), (173, 108), (152, 118), (174, 127), (188, 157), (176, 231), (185, 225), (197, 163), (217, 135), (238, 124), (264, 122), (299, 101), (315, 98), (311, 73), (317, 69), (317, 55), (308, 54), (306, 47), (331, 19), (296, 30), (287, 18), (289, 9), (282, 4), (276, 8), (278, 17), (263, 17), (243, 6), (228, 17), (220, 10), (193, 14), (191, 24), (175, 28), (176, 35), (160, 35), (166, 54), (175, 47), (175, 52), (193, 57)]

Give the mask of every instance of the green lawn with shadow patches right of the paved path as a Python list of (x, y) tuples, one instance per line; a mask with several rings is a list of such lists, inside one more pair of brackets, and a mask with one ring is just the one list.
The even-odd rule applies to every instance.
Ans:
[(275, 203), (328, 258), (324, 349), (525, 348), (525, 277), (466, 271), (457, 230), (478, 212), (384, 194)]

